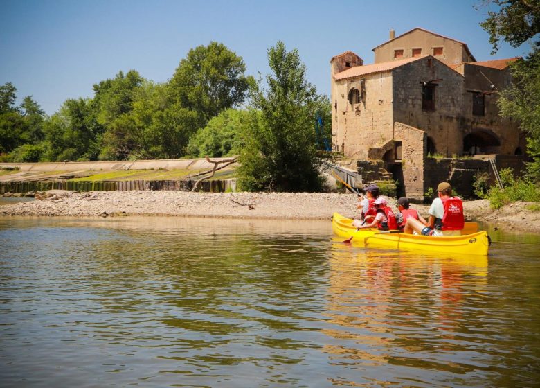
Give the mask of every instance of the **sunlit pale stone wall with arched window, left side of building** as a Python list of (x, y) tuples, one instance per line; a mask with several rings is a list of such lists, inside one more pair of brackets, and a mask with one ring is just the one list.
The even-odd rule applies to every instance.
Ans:
[[(361, 89), (365, 98), (350, 104), (349, 91)], [(332, 82), (332, 145), (334, 150), (356, 159), (368, 159), (368, 150), (393, 139), (392, 74)]]

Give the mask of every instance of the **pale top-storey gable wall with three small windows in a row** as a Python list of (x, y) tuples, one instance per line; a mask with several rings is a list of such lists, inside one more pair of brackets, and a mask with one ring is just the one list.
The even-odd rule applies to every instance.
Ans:
[(461, 62), (471, 62), (473, 58), (467, 53), (465, 44), (447, 39), (424, 30), (413, 30), (400, 37), (397, 37), (386, 44), (373, 49), (375, 52), (375, 63), (390, 62), (395, 60), (394, 51), (403, 50), (404, 58), (413, 56), (413, 48), (421, 48), (420, 55), (434, 55), (433, 48), (442, 47), (442, 55), (436, 58), (447, 64), (459, 64)]

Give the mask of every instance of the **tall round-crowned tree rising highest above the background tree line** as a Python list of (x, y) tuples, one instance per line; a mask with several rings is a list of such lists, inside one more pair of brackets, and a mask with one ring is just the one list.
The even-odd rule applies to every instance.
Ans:
[(219, 112), (244, 103), (251, 78), (244, 76), (241, 57), (224, 44), (192, 48), (169, 82), (174, 100), (197, 112), (197, 128), (204, 127)]

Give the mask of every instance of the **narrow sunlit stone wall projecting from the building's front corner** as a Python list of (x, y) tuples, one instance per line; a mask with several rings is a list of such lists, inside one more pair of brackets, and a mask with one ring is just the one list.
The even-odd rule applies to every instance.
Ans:
[(426, 132), (402, 123), (394, 123), (394, 131), (396, 141), (402, 142), (404, 195), (415, 200), (422, 200)]

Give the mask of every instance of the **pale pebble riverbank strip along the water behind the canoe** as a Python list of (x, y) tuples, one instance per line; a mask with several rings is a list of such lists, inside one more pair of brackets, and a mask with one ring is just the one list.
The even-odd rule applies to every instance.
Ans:
[[(32, 202), (0, 206), (0, 215), (119, 217), (170, 215), (183, 217), (330, 220), (337, 212), (358, 214), (354, 195), (340, 193), (191, 193), (186, 191), (48, 191)], [(395, 208), (395, 200), (389, 201)], [(497, 211), (487, 200), (467, 201), (470, 221), (489, 222), (501, 229), (540, 233), (540, 211), (516, 202)], [(427, 215), (429, 206), (414, 205)]]

